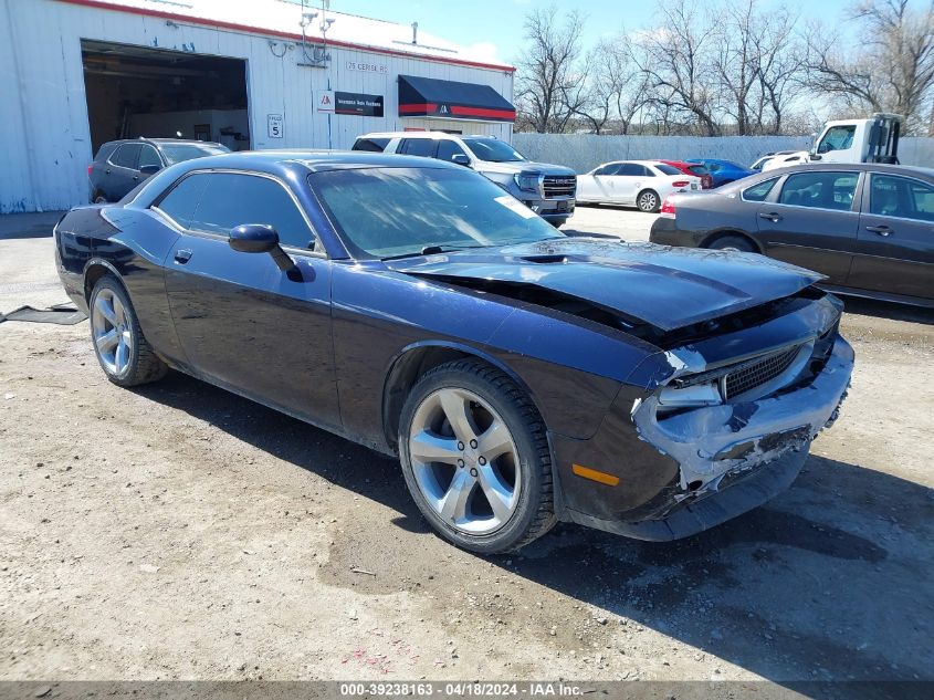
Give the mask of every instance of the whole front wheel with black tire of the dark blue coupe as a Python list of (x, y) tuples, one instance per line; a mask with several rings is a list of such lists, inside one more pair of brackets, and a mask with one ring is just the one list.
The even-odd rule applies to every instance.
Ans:
[(459, 547), (508, 552), (555, 524), (545, 424), (489, 365), (454, 361), (418, 380), (402, 408), (399, 457), (422, 515)]

